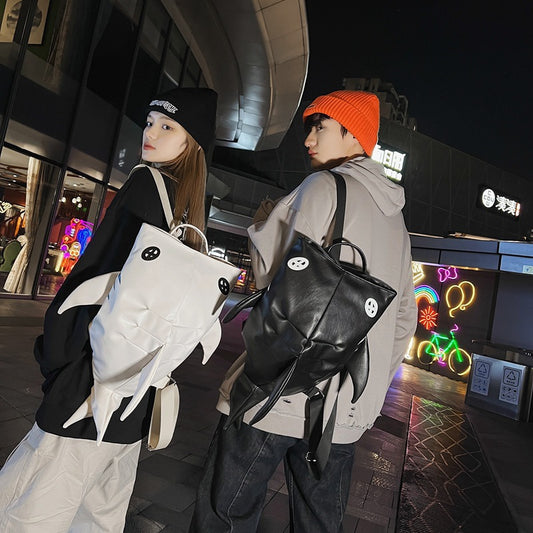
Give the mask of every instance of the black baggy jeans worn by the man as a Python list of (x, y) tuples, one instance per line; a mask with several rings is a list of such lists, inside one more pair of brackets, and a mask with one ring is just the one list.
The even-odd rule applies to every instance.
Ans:
[(320, 481), (309, 472), (307, 442), (247, 424), (223, 429), (223, 415), (198, 487), (190, 533), (254, 533), (267, 484), (281, 460), (291, 533), (339, 533), (350, 491), (355, 444), (333, 444)]

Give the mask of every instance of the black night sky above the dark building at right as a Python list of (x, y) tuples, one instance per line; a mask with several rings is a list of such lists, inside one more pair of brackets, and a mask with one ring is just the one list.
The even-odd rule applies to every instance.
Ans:
[(304, 99), (380, 78), (418, 131), (533, 180), (533, 2), (472, 4), (307, 0)]

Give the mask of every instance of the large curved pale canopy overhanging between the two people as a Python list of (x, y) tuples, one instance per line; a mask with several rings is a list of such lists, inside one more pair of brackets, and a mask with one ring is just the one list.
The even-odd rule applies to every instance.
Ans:
[(309, 40), (304, 0), (163, 0), (219, 94), (217, 144), (277, 148), (298, 108)]

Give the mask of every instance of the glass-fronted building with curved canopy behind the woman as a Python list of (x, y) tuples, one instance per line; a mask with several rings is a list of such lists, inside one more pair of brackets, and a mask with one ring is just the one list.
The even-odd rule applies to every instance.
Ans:
[(0, 297), (57, 292), (139, 161), (155, 94), (211, 87), (217, 143), (273, 149), (307, 74), (303, 0), (0, 0), (0, 14)]

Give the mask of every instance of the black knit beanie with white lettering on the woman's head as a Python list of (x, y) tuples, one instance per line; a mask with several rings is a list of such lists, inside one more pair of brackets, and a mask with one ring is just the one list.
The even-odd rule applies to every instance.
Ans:
[(146, 113), (159, 111), (179, 122), (207, 155), (215, 140), (217, 93), (212, 89), (190, 87), (172, 89), (154, 98)]

